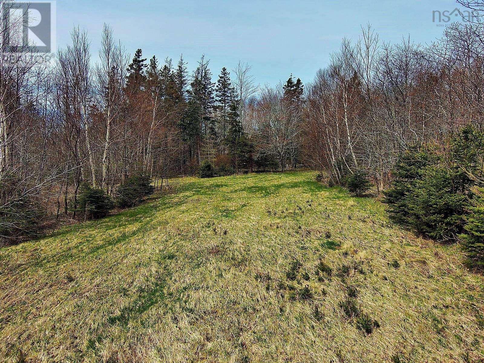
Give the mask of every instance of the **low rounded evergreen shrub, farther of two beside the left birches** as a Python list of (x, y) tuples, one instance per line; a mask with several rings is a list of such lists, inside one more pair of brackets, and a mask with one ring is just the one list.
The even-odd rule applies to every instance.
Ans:
[(149, 175), (130, 176), (116, 189), (116, 205), (121, 208), (137, 205), (153, 192), (154, 187), (151, 185)]

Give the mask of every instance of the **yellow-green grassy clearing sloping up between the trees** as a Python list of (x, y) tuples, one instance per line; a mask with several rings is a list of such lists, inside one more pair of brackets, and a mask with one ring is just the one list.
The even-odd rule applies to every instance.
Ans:
[(183, 178), (0, 249), (0, 362), (483, 362), (458, 248), (314, 178)]

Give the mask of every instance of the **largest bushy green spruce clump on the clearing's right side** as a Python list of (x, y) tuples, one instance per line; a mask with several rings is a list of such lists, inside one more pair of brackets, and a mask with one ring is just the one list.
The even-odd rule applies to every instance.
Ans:
[(476, 183), (483, 177), (484, 134), (462, 129), (444, 160), (432, 145), (411, 146), (400, 156), (384, 203), (393, 221), (425, 236), (456, 239), (464, 232)]

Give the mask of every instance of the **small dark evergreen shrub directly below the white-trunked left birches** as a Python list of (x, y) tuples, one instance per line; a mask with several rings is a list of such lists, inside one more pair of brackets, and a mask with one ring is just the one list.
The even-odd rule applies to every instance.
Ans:
[(106, 194), (106, 191), (92, 188), (87, 183), (81, 186), (75, 208), (77, 212), (85, 213), (88, 219), (97, 219), (106, 217), (112, 208), (113, 202), (111, 197)]

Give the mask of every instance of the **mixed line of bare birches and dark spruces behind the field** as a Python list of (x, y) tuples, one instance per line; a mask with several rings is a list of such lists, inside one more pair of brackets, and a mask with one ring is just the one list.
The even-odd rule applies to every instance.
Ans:
[(52, 66), (2, 53), (0, 235), (39, 216), (85, 217), (85, 185), (116, 197), (131, 177), (161, 187), (207, 162), (219, 175), (306, 167), (334, 185), (364, 174), (387, 189), (409, 145), (447, 155), (462, 127), (482, 130), (483, 35), (454, 23), (427, 46), (390, 44), (368, 25), (313, 82), (291, 74), (274, 87), (242, 62), (214, 80), (204, 56), (192, 72), (182, 56), (130, 56), (108, 25), (96, 62), (79, 28)]

